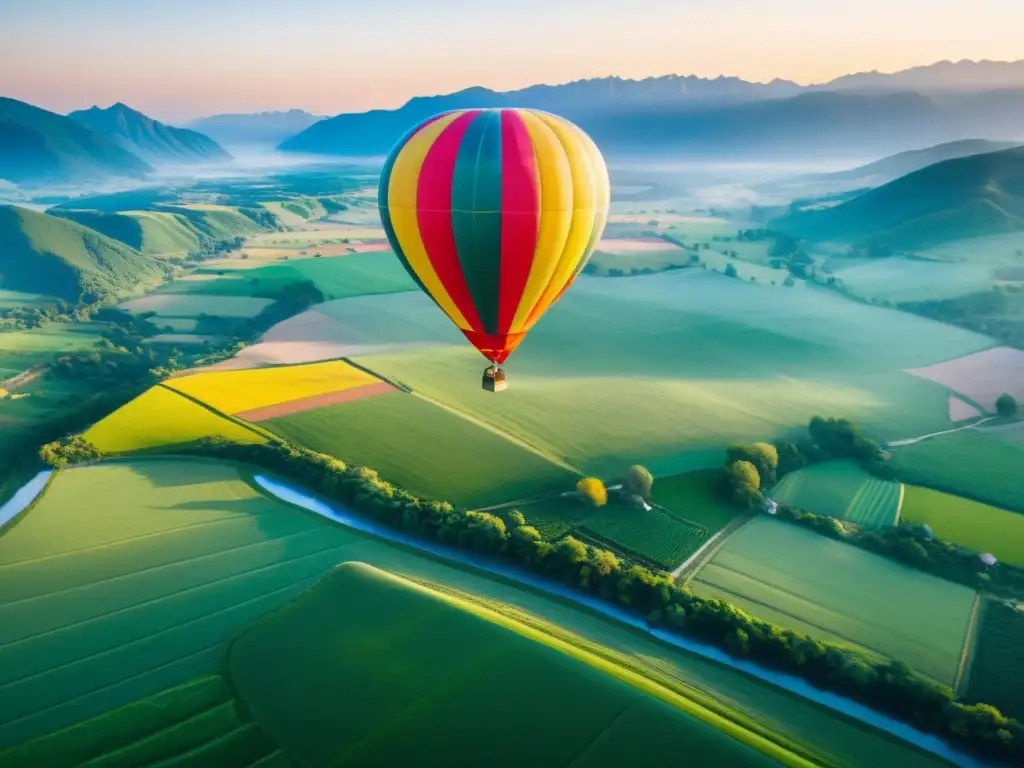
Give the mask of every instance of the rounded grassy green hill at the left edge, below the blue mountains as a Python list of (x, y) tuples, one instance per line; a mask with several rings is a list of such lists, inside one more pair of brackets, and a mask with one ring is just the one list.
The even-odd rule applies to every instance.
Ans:
[(69, 302), (122, 295), (162, 275), (138, 251), (74, 221), (0, 207), (0, 288)]

